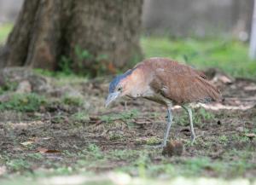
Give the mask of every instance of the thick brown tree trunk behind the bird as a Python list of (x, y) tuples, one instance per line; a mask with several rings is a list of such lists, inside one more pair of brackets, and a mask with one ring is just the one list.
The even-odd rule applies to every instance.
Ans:
[[(26, 0), (0, 66), (114, 71), (141, 56), (143, 0)], [(65, 57), (64, 57), (65, 56)]]

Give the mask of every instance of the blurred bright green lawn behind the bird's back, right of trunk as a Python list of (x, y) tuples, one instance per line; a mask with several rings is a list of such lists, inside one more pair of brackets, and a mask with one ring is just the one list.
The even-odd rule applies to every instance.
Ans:
[(256, 78), (256, 61), (248, 58), (248, 45), (224, 39), (171, 39), (143, 37), (145, 57), (168, 57), (204, 69), (218, 67), (235, 77)]

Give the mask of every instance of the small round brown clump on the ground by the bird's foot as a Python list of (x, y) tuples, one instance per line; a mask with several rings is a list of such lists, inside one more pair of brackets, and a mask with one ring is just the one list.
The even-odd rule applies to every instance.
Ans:
[(172, 156), (181, 156), (183, 154), (183, 143), (178, 141), (171, 141), (166, 144), (164, 147), (162, 154), (168, 157)]

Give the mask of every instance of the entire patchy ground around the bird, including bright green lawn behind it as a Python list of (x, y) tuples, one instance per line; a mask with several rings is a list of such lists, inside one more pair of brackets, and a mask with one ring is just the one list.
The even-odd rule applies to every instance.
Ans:
[(183, 149), (174, 156), (153, 147), (165, 107), (122, 99), (105, 108), (112, 77), (0, 70), (0, 184), (256, 184), (256, 62), (247, 43), (142, 37), (142, 46), (146, 58), (214, 67), (207, 76), (224, 99), (193, 106), (194, 145), (181, 107), (172, 110), (170, 141)]

